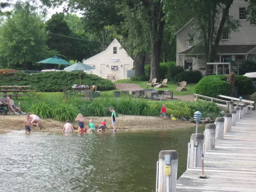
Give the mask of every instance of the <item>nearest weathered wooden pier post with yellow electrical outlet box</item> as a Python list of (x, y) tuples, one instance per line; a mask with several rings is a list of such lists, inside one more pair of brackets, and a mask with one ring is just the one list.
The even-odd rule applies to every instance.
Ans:
[[(170, 158), (170, 165), (169, 163), (166, 164), (165, 158), (167, 159)], [(160, 151), (159, 170), (158, 170), (158, 192), (166, 192), (167, 185), (169, 185), (170, 192), (176, 192), (177, 172), (178, 172), (178, 152), (176, 150)]]

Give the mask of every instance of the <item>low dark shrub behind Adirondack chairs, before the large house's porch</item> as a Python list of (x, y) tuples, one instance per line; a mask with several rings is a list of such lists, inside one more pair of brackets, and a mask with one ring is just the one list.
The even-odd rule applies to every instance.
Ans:
[(202, 79), (202, 73), (200, 71), (183, 71), (182, 73), (178, 73), (174, 81), (181, 82), (186, 81), (187, 83), (198, 83)]

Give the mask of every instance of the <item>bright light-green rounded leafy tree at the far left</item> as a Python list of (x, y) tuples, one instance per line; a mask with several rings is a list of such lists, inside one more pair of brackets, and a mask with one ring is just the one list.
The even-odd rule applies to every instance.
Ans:
[(18, 10), (0, 27), (0, 62), (10, 67), (22, 64), (27, 69), (41, 59), (56, 54), (47, 44), (43, 22), (35, 13)]

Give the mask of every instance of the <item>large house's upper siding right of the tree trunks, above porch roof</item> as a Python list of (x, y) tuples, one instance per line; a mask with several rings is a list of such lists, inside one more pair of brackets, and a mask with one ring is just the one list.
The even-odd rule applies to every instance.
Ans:
[[(239, 20), (239, 7), (246, 7), (248, 2), (234, 0), (230, 6), (230, 16)], [(256, 44), (256, 27), (250, 21), (240, 21), (241, 27), (237, 32), (230, 33), (229, 41), (220, 42), (221, 45), (254, 45)]]

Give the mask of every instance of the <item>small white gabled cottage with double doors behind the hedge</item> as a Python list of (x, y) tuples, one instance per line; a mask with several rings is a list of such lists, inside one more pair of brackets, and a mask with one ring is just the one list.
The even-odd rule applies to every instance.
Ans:
[(133, 59), (117, 39), (114, 39), (105, 51), (84, 60), (83, 63), (95, 68), (87, 73), (109, 79), (113, 78), (112, 76), (115, 79), (126, 79), (127, 71), (133, 68)]

